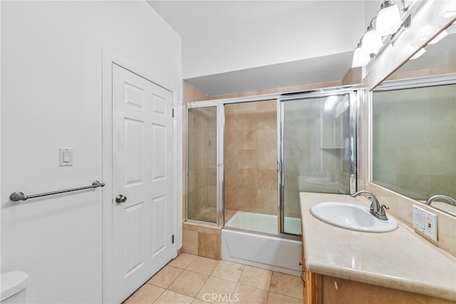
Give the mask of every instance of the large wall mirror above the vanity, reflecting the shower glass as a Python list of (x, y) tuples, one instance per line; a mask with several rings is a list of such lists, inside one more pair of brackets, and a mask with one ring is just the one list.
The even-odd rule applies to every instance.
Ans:
[(455, 49), (456, 23), (450, 23), (422, 47), (421, 56), (373, 89), (371, 108), (372, 182), (453, 215)]

